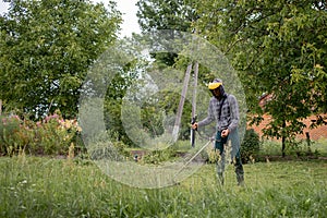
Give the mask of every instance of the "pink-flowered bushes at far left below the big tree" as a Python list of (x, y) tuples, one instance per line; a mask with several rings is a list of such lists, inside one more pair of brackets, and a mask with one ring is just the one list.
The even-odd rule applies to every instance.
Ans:
[(63, 120), (58, 111), (38, 122), (21, 120), (16, 116), (3, 117), (0, 120), (0, 131), (1, 155), (26, 153), (66, 156), (71, 147), (75, 153), (84, 149), (76, 121)]

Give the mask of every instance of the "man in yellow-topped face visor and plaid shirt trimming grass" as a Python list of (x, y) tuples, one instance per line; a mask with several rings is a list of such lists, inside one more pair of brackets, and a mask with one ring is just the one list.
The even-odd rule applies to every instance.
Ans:
[(244, 170), (240, 155), (240, 138), (239, 138), (239, 105), (235, 96), (225, 93), (222, 81), (215, 78), (208, 85), (213, 97), (209, 101), (208, 116), (204, 120), (194, 123), (193, 129), (207, 125), (213, 121), (216, 123), (216, 141), (215, 150), (219, 150), (220, 160), (217, 161), (217, 173), (218, 180), (223, 184), (223, 172), (225, 172), (225, 145), (228, 141), (231, 142), (232, 150), (231, 157), (235, 166), (238, 185), (244, 184)]

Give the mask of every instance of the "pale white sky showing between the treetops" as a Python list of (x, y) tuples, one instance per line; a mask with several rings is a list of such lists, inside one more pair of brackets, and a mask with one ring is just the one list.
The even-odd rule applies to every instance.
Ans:
[[(104, 2), (105, 5), (108, 4), (108, 0), (93, 0), (95, 2)], [(124, 36), (132, 36), (132, 33), (141, 33), (136, 11), (137, 7), (135, 3), (137, 0), (114, 0), (117, 2), (117, 8), (120, 12), (122, 12), (123, 23), (122, 31), (120, 33), (120, 38)], [(4, 13), (8, 10), (8, 3), (3, 0), (0, 0), (0, 14)]]

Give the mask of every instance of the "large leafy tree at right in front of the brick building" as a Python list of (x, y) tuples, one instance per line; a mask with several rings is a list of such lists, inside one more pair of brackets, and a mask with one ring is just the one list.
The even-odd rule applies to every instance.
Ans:
[[(230, 58), (265, 134), (282, 138), (282, 155), (305, 126), (302, 119), (326, 112), (327, 4), (303, 1), (209, 0), (197, 4), (196, 28)], [(258, 97), (269, 95), (264, 108)], [(326, 119), (326, 118), (325, 118)], [(319, 119), (324, 123), (324, 119)]]

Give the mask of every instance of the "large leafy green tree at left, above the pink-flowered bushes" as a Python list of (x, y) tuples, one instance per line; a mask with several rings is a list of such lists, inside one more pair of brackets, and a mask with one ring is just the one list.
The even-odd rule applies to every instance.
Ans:
[[(0, 16), (0, 99), (7, 110), (74, 117), (89, 65), (117, 38), (110, 2), (15, 0)], [(50, 111), (49, 111), (50, 110)]]

